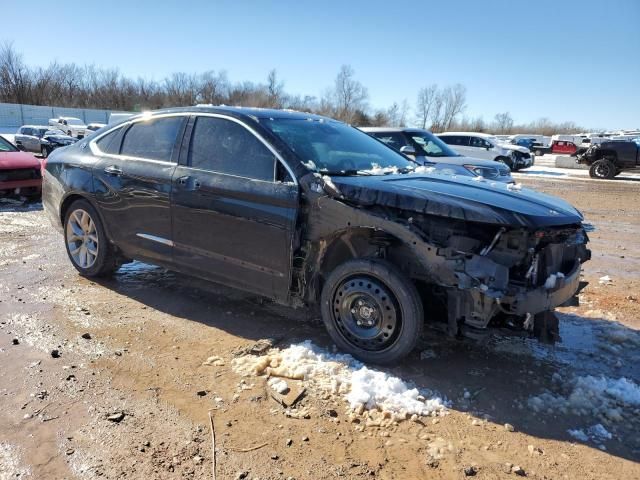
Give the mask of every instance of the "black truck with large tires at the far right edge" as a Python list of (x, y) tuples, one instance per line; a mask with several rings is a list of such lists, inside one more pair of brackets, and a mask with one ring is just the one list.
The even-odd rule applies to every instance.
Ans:
[(612, 179), (620, 172), (640, 169), (640, 139), (602, 142), (580, 149), (576, 161), (589, 165), (592, 178)]

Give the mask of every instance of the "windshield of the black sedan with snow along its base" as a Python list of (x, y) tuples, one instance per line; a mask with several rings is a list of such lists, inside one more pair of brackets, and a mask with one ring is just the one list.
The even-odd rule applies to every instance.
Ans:
[(329, 175), (382, 175), (416, 165), (360, 130), (333, 120), (270, 118), (261, 123), (310, 170)]

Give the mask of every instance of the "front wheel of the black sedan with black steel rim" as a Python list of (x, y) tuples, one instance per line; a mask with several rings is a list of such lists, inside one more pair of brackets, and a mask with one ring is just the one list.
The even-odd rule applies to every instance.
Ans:
[(349, 260), (331, 272), (321, 313), (338, 348), (367, 363), (392, 364), (407, 356), (424, 327), (415, 285), (378, 259)]

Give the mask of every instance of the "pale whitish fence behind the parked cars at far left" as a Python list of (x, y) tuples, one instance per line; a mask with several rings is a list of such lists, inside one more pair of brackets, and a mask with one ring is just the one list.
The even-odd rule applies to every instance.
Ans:
[(55, 117), (76, 117), (85, 124), (108, 123), (112, 113), (130, 112), (0, 103), (0, 133), (16, 133), (22, 125), (48, 125), (49, 119)]

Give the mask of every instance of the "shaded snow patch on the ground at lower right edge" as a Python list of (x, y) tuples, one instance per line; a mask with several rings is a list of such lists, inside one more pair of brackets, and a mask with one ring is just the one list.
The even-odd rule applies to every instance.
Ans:
[(625, 377), (577, 377), (566, 396), (545, 392), (530, 397), (529, 407), (536, 412), (574, 413), (619, 422), (640, 406), (640, 386)]

